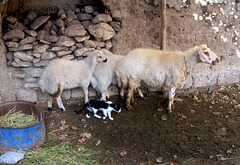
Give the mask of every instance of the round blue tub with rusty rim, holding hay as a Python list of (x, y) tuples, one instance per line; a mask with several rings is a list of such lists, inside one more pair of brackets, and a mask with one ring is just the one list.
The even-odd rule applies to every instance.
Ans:
[(39, 118), (39, 123), (24, 128), (0, 127), (0, 151), (28, 150), (42, 145), (46, 139), (43, 111), (35, 104), (17, 101), (0, 105), (0, 116), (7, 114), (13, 107), (17, 111)]

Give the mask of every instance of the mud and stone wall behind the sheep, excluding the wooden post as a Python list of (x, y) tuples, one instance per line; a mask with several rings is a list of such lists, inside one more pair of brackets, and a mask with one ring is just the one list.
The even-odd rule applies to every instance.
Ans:
[[(85, 52), (97, 47), (107, 48), (115, 54), (127, 54), (138, 47), (160, 48), (159, 0), (102, 2), (106, 7), (106, 10), (102, 11), (107, 12), (106, 15), (102, 15), (104, 18), (97, 18), (98, 14), (88, 13), (84, 6), (78, 8), (74, 2), (66, 1), (61, 1), (66, 8), (58, 11), (55, 20), (43, 16), (41, 11), (45, 6), (38, 11), (32, 10), (31, 8), (36, 6), (31, 7), (30, 1), (26, 1), (24, 10), (28, 12), (24, 11), (25, 15), (21, 19), (5, 17), (9, 26), (2, 38), (8, 51), (1, 51), (1, 57), (5, 55), (5, 58), (1, 59), (1, 67), (4, 66), (5, 74), (0, 75), (0, 80), (8, 81), (3, 84), (4, 90), (0, 91), (0, 102), (14, 99), (33, 102), (46, 100), (47, 96), (39, 90), (37, 80), (43, 68), (53, 58), (79, 59)], [(67, 5), (68, 3), (71, 5)], [(43, 4), (46, 5), (47, 1)], [(235, 0), (168, 0), (167, 4), (168, 50), (185, 51), (195, 45), (207, 44), (216, 54), (222, 56), (221, 64), (217, 66), (201, 63), (194, 67), (183, 88), (191, 91), (198, 87), (208, 88), (216, 84), (239, 82), (239, 3)], [(46, 5), (48, 6), (49, 4)], [(43, 23), (39, 27), (36, 25), (35, 29), (33, 23), (40, 18)], [(95, 19), (100, 22), (94, 22)], [(78, 26), (75, 26), (76, 24)], [(110, 28), (114, 30), (109, 30)], [(21, 32), (14, 34), (16, 29)], [(107, 30), (112, 38), (98, 36), (102, 33), (96, 29)], [(74, 36), (69, 34), (71, 32), (74, 32), (74, 35), (78, 34)], [(9, 91), (8, 99), (5, 99), (6, 91)], [(95, 95), (94, 90), (90, 93), (91, 96)], [(66, 90), (63, 93), (63, 99), (82, 96), (80, 89)]]

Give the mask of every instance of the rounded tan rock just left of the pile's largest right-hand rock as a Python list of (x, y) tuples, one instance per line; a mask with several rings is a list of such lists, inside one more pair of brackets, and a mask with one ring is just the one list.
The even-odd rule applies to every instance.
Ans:
[(68, 37), (81, 37), (86, 33), (87, 32), (82, 25), (71, 25), (65, 31), (65, 35)]

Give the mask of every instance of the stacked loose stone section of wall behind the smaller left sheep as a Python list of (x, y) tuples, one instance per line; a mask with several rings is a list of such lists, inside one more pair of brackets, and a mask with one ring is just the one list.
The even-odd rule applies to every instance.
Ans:
[[(52, 59), (82, 60), (92, 50), (109, 50), (111, 39), (121, 26), (109, 14), (99, 13), (93, 6), (75, 11), (59, 9), (55, 17), (37, 16), (30, 11), (23, 22), (12, 16), (6, 17), (6, 22), (8, 28), (2, 39), (7, 48), (7, 65), (14, 70), (12, 77), (22, 84), (16, 97), (33, 102), (47, 99), (37, 82)], [(63, 98), (81, 95), (81, 89), (66, 90)], [(91, 95), (95, 95), (93, 90)]]

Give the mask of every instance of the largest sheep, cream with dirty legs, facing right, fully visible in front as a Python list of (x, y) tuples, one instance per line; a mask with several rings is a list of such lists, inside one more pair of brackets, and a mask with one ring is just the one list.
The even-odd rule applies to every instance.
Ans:
[(149, 87), (168, 90), (168, 113), (172, 113), (175, 90), (183, 85), (190, 69), (199, 62), (216, 65), (219, 57), (207, 45), (195, 46), (186, 52), (135, 49), (116, 68), (118, 86), (128, 87), (126, 107), (134, 102), (133, 90), (141, 81)]

